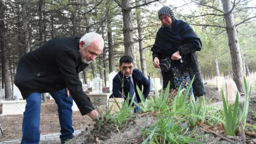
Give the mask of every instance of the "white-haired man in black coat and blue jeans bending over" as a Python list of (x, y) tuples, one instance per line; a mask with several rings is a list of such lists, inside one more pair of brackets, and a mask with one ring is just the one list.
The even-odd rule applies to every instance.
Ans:
[(19, 60), (14, 83), (27, 102), (21, 144), (39, 143), (41, 93), (49, 92), (58, 105), (61, 143), (74, 137), (72, 99), (82, 116), (88, 114), (93, 120), (99, 118), (99, 113), (82, 90), (78, 73), (95, 60), (103, 47), (102, 37), (92, 32), (82, 38), (52, 39)]

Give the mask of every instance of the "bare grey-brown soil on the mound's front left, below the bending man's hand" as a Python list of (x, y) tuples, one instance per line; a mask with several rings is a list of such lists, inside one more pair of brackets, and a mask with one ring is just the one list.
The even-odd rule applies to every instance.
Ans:
[[(72, 140), (72, 144), (94, 144), (100, 142), (100, 144), (131, 144), (131, 143), (140, 143), (138, 141), (142, 140), (142, 133), (141, 133), (141, 127), (150, 127), (154, 124), (154, 119), (155, 117), (152, 115), (147, 115), (147, 116), (140, 116), (138, 115), (136, 120), (134, 121), (129, 121), (127, 122), (127, 124), (121, 128), (121, 129), (117, 129), (117, 127), (113, 127), (113, 125), (111, 124), (106, 124), (106, 128), (104, 127), (103, 131), (107, 131), (108, 134), (106, 133), (99, 133), (97, 132), (96, 129), (92, 129), (92, 131), (94, 133), (91, 133), (88, 131), (81, 133), (79, 136), (75, 137)], [(110, 130), (110, 127), (108, 126), (112, 126), (112, 130)], [(101, 136), (100, 139), (99, 134), (101, 134), (102, 136), (107, 136), (106, 138), (103, 138)], [(138, 140), (141, 139), (141, 140)]]

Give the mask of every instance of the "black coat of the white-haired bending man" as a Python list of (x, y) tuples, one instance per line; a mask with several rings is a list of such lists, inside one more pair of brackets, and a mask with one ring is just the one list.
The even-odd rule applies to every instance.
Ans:
[(78, 78), (88, 66), (80, 61), (80, 38), (52, 39), (19, 60), (14, 83), (24, 100), (33, 92), (51, 93), (68, 87), (82, 115), (94, 110)]

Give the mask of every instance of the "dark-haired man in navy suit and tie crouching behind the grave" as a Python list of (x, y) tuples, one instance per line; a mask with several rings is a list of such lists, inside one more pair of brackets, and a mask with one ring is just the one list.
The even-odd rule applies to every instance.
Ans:
[[(137, 86), (142, 90), (143, 85), (143, 96), (146, 99), (150, 91), (150, 82), (141, 73), (139, 69), (133, 68), (133, 59), (131, 56), (124, 55), (119, 60), (119, 72), (113, 79), (113, 93), (110, 98), (124, 98), (127, 100), (128, 93), (130, 93), (130, 102), (133, 94), (135, 93), (134, 101), (140, 103), (140, 97), (137, 91)], [(136, 106), (135, 112), (139, 112), (140, 108)]]

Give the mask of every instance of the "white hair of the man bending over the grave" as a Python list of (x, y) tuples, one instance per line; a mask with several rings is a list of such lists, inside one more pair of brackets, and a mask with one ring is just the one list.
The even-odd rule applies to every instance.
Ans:
[(100, 42), (99, 50), (103, 50), (104, 40), (103, 40), (102, 36), (100, 36), (99, 34), (97, 34), (95, 32), (90, 32), (90, 33), (85, 34), (83, 37), (80, 38), (80, 42), (81, 41), (84, 41), (85, 48), (90, 46), (92, 42), (98, 41), (98, 42)]

